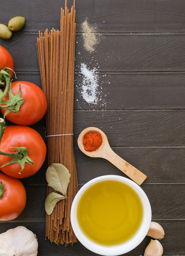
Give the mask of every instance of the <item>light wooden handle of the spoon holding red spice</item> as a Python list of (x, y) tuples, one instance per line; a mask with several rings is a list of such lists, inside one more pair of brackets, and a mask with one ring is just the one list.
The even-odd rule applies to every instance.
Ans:
[(119, 157), (112, 148), (107, 148), (104, 158), (114, 164), (120, 171), (125, 173), (130, 179), (141, 185), (146, 179), (146, 175), (139, 171), (137, 168), (126, 162), (123, 158)]

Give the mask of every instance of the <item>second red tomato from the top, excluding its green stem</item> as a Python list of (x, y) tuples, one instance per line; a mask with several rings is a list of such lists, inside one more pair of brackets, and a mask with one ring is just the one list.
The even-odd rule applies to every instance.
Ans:
[[(20, 125), (31, 125), (35, 124), (42, 117), (44, 117), (47, 110), (47, 101), (44, 92), (34, 83), (26, 81), (16, 81), (11, 84), (13, 94), (17, 94), (21, 86), (21, 97), (24, 98), (24, 103), (20, 106), (18, 113), (9, 112), (6, 115), (6, 118), (14, 124)], [(8, 100), (9, 95), (3, 99)], [(2, 100), (2, 101), (3, 101)], [(1, 112), (4, 115), (4, 112), (7, 109), (2, 109)]]

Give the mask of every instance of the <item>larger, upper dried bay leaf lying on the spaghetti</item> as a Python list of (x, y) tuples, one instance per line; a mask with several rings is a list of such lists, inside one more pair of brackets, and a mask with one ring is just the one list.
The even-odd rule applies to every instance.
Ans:
[(46, 171), (46, 180), (48, 186), (66, 196), (70, 182), (70, 173), (63, 164), (51, 164)]

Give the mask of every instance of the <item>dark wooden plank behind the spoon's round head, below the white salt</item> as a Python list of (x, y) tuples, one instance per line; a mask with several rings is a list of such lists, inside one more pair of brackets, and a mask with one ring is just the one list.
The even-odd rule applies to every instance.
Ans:
[(183, 110), (79, 111), (74, 116), (74, 139), (84, 128), (94, 126), (103, 130), (111, 146), (184, 147), (184, 119)]

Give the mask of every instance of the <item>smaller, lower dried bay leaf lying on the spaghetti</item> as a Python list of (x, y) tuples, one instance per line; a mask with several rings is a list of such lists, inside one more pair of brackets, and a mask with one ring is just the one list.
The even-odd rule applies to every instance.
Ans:
[(53, 212), (53, 209), (55, 207), (55, 205), (57, 204), (57, 202), (59, 202), (60, 200), (66, 198), (64, 195), (60, 195), (58, 193), (55, 192), (51, 192), (45, 200), (45, 210), (46, 213), (48, 215), (50, 215)]

